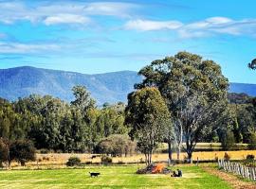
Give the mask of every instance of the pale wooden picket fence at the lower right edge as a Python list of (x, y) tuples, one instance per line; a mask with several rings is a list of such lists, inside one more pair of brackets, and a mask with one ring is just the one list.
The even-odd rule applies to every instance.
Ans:
[(225, 160), (218, 160), (219, 168), (229, 173), (239, 175), (248, 180), (256, 181), (256, 167), (249, 167), (241, 163), (231, 163)]

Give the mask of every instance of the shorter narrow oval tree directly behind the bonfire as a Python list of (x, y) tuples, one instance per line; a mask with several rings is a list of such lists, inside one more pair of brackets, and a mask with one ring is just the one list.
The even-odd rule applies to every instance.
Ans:
[(151, 163), (153, 150), (157, 143), (163, 142), (166, 127), (170, 125), (170, 113), (161, 94), (153, 87), (133, 92), (128, 95), (125, 112), (130, 136), (137, 139), (146, 163)]

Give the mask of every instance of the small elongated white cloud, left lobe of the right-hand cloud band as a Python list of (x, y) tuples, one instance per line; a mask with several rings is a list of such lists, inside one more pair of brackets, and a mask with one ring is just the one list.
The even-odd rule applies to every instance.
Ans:
[(128, 21), (124, 28), (135, 29), (139, 31), (177, 29), (182, 26), (178, 21), (150, 21), (150, 20), (133, 20)]

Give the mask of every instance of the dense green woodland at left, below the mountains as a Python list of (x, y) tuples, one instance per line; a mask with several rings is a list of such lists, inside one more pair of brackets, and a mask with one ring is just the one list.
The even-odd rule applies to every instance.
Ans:
[(38, 149), (92, 152), (102, 138), (128, 132), (123, 104), (99, 110), (84, 87), (76, 86), (73, 92), (71, 104), (36, 94), (13, 103), (0, 99), (0, 137), (30, 140)]

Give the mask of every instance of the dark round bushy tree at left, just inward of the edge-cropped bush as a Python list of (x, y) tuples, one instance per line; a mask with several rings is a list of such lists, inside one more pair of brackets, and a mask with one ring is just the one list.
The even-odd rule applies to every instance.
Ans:
[(25, 166), (27, 161), (35, 160), (35, 148), (30, 141), (15, 141), (9, 146), (9, 163), (17, 161)]

